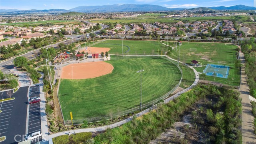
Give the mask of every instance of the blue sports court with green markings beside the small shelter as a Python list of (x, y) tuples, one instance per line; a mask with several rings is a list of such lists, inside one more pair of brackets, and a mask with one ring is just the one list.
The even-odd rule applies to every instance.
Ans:
[(206, 68), (204, 69), (204, 73), (206, 76), (213, 76), (215, 72), (216, 77), (228, 78), (229, 69), (229, 66), (207, 64)]

